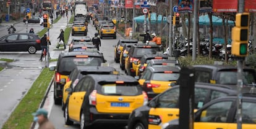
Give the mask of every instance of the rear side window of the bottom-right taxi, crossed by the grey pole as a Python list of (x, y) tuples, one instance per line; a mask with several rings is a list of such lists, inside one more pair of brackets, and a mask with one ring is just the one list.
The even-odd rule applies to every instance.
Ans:
[[(236, 123), (236, 117), (234, 118)], [(256, 103), (246, 102), (242, 103), (242, 123), (256, 123)]]

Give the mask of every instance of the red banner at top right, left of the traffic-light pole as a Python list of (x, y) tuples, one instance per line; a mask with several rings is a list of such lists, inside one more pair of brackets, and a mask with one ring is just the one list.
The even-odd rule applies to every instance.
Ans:
[(213, 0), (213, 12), (237, 12), (238, 0)]

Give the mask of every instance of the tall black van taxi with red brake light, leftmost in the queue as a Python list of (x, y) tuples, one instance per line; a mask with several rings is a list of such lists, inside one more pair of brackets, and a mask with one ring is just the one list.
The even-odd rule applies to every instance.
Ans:
[(68, 79), (75, 66), (101, 66), (101, 63), (105, 62), (103, 54), (98, 51), (61, 52), (56, 67), (50, 68), (50, 70), (55, 70), (54, 104), (61, 104), (62, 91), (65, 84), (62, 80)]

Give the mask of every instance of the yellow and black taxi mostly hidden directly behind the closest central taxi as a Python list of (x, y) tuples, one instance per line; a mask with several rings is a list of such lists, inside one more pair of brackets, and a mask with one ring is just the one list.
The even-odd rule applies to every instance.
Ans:
[(75, 66), (75, 68), (70, 72), (67, 79), (64, 80), (66, 84), (63, 88), (63, 98), (62, 98), (62, 109), (66, 106), (67, 96), (69, 92), (67, 88), (74, 88), (82, 77), (87, 74), (114, 74), (115, 68), (109, 66)]

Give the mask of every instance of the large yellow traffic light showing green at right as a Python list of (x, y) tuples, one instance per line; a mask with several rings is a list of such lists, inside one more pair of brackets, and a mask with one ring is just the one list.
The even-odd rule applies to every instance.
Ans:
[(249, 13), (236, 14), (236, 26), (232, 28), (231, 53), (237, 57), (248, 55)]

